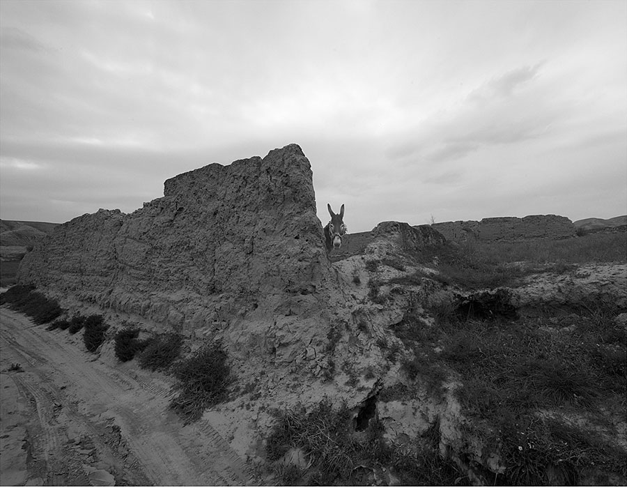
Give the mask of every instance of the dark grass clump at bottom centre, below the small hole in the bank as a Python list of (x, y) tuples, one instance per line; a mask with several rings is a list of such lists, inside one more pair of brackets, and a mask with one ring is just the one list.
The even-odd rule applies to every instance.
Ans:
[[(467, 484), (455, 464), (440, 457), (439, 429), (429, 431), (435, 441), (421, 441), (410, 450), (387, 445), (382, 438), (382, 424), (371, 418), (363, 432), (353, 428), (353, 414), (343, 404), (334, 408), (329, 399), (314, 406), (309, 413), (300, 406), (277, 413), (277, 425), (268, 438), (266, 459), (274, 463), (278, 481), (284, 485), (364, 485), (382, 466), (392, 467), (402, 485)], [(304, 452), (311, 466), (302, 469), (286, 465), (281, 458), (290, 449)], [(382, 472), (382, 471), (381, 471)]]

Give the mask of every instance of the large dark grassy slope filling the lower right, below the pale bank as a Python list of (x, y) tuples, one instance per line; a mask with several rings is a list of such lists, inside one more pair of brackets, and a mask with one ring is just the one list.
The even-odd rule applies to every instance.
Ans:
[[(612, 319), (625, 311), (594, 300), (563, 318), (467, 319), (443, 313), (434, 328), (420, 324), (410, 310), (393, 331), (414, 351), (402, 361), (409, 379), (420, 378), (432, 394), (447, 376), (460, 379), (463, 412), (489, 425), (474, 435), (493, 446), (490, 452), (502, 450), (507, 470), (498, 484), (555, 484), (547, 473), (573, 484), (592, 466), (627, 476), (624, 452), (611, 440), (564, 424), (558, 413), (549, 421), (538, 412), (590, 415), (603, 408), (624, 415), (627, 336)], [(603, 422), (599, 414), (596, 419)]]

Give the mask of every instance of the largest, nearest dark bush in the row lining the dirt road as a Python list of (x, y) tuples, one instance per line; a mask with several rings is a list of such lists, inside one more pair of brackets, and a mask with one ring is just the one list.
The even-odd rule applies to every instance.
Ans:
[(185, 422), (201, 418), (209, 406), (224, 402), (233, 381), (231, 368), (222, 344), (201, 347), (173, 369), (181, 390), (170, 406)]

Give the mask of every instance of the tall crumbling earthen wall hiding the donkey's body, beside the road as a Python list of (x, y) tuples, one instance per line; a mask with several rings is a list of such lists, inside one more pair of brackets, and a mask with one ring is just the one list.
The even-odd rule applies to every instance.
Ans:
[(199, 328), (256, 309), (307, 316), (329, 266), (311, 166), (292, 144), (170, 178), (164, 197), (133, 213), (61, 224), (24, 257), (18, 280)]

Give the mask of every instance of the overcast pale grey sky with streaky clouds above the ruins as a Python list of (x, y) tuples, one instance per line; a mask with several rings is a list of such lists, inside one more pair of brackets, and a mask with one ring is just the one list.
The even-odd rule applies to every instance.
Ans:
[(0, 0), (0, 216), (297, 143), (349, 231), (627, 213), (627, 1)]

